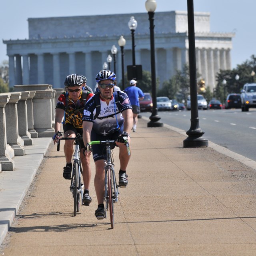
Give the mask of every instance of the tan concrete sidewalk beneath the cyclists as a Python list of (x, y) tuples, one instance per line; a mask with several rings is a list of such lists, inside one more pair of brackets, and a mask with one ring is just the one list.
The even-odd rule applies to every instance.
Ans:
[[(184, 131), (147, 128), (147, 122), (140, 119), (131, 133), (129, 184), (120, 189), (113, 230), (109, 217), (99, 221), (94, 216), (94, 172), (92, 203), (72, 217), (68, 182), (60, 171), (63, 149), (57, 153), (51, 144), (5, 255), (255, 255), (255, 162), (212, 143), (183, 148)], [(117, 149), (114, 159), (118, 170)], [(18, 170), (12, 173), (18, 175)], [(5, 175), (0, 174), (1, 188)], [(16, 180), (26, 188), (31, 183), (31, 177)], [(2, 212), (17, 211), (20, 194), (6, 194), (12, 204), (2, 207), (2, 193)], [(0, 217), (3, 226), (10, 226), (9, 218)]]

